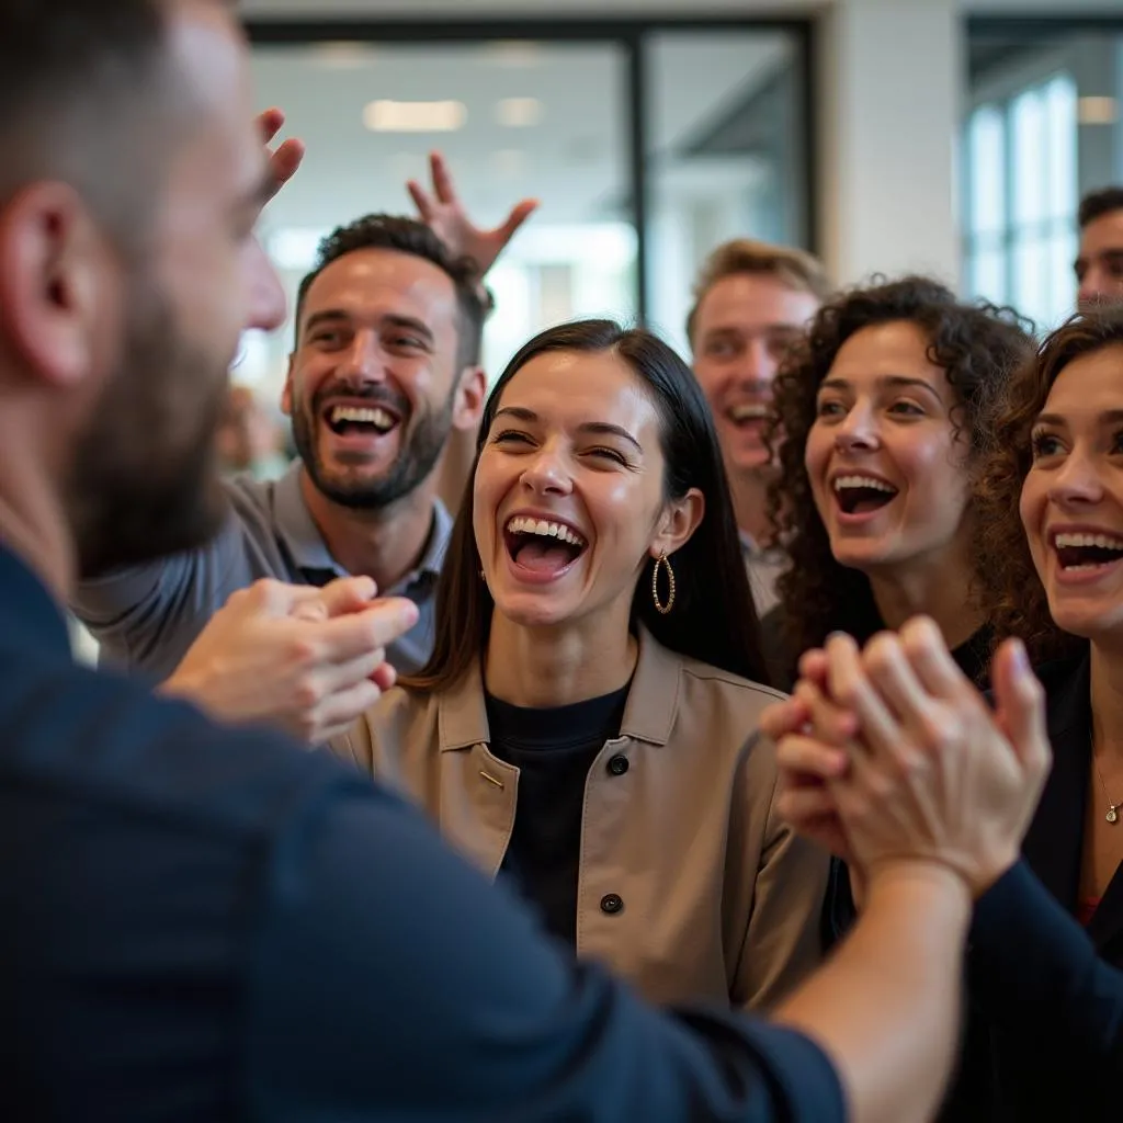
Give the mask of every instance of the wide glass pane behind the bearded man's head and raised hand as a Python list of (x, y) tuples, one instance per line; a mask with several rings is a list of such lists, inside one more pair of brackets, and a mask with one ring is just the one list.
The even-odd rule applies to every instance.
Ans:
[[(310, 141), (300, 175), (263, 219), (290, 307), (318, 238), (371, 211), (412, 214), (405, 180), (427, 182), (438, 149), (481, 225), (520, 199), (542, 201), (487, 279), (496, 294), (484, 332), (490, 374), (559, 319), (633, 319), (624, 71), (623, 48), (610, 42), (258, 45), (259, 103), (284, 106), (287, 133)], [(396, 120), (368, 112), (374, 102), (413, 106)], [(432, 102), (459, 108), (419, 121), (417, 103)], [(291, 327), (271, 341), (277, 385), (291, 343)]]

